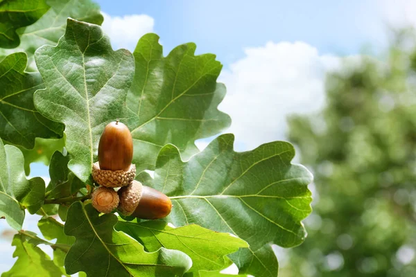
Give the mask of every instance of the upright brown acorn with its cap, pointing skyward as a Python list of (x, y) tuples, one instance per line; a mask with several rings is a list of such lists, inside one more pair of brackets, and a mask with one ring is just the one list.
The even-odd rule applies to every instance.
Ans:
[(132, 159), (133, 139), (130, 130), (119, 120), (109, 123), (98, 144), (98, 162), (92, 166), (94, 181), (109, 188), (127, 186), (136, 176)]

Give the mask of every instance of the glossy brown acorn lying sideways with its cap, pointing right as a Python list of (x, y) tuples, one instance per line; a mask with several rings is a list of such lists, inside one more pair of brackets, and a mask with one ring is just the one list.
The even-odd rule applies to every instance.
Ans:
[(120, 202), (118, 211), (144, 220), (157, 220), (171, 213), (172, 202), (163, 193), (143, 186), (139, 181), (120, 188), (117, 192)]

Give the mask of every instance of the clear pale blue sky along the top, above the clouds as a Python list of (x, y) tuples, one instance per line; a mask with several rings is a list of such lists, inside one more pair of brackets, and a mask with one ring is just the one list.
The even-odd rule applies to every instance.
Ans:
[(171, 49), (196, 42), (199, 53), (215, 53), (225, 65), (243, 48), (266, 42), (302, 41), (320, 53), (359, 53), (383, 41), (376, 0), (352, 1), (112, 1), (99, 0), (112, 16), (132, 13), (155, 19), (155, 33)]

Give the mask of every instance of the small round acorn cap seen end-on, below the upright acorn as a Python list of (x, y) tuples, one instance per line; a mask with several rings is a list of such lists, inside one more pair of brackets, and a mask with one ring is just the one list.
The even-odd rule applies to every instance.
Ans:
[(103, 186), (92, 192), (92, 206), (101, 213), (111, 213), (119, 206), (119, 195), (112, 188)]

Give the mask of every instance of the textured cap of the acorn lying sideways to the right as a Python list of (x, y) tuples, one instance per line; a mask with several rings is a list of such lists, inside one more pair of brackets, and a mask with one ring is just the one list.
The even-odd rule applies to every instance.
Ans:
[(119, 212), (122, 215), (131, 215), (139, 205), (141, 190), (143, 185), (139, 181), (132, 181), (132, 184), (120, 188), (119, 193)]

